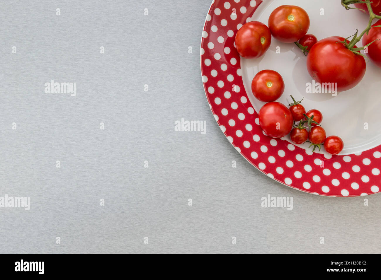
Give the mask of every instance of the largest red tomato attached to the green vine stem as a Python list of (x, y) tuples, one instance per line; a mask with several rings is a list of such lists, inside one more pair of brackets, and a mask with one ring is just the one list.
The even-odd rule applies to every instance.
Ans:
[(343, 43), (338, 43), (344, 40), (343, 37), (320, 40), (312, 46), (307, 56), (307, 69), (315, 82), (337, 83), (337, 91), (350, 90), (356, 86), (364, 77), (367, 67), (362, 56), (347, 49)]

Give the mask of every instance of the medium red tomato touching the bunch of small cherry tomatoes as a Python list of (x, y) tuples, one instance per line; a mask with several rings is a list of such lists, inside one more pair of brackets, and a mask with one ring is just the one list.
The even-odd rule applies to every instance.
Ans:
[(293, 125), (290, 110), (279, 102), (269, 102), (259, 110), (259, 125), (270, 137), (282, 138), (290, 133)]

